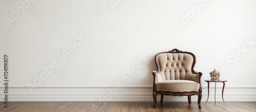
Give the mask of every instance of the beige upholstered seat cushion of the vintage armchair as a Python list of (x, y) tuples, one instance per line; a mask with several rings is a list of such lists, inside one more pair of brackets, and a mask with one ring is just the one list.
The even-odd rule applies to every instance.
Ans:
[(156, 83), (157, 91), (190, 92), (198, 91), (200, 84), (190, 80), (164, 80)]

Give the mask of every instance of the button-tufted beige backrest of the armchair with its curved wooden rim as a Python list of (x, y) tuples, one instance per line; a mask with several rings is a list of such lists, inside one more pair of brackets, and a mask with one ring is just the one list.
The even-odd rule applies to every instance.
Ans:
[(196, 57), (189, 52), (174, 50), (156, 55), (157, 73), (163, 80), (186, 80), (189, 77), (187, 74), (194, 73)]

